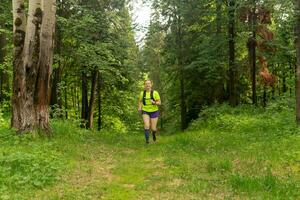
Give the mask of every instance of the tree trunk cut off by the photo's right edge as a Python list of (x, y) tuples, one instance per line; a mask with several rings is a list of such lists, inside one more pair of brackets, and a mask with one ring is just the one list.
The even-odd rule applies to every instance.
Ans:
[(297, 53), (297, 79), (296, 79), (296, 121), (300, 125), (300, 0), (295, 0), (296, 12), (296, 53)]

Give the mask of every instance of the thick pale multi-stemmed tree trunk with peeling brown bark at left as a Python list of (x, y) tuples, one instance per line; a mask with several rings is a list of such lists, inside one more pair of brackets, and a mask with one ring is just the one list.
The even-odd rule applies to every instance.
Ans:
[(36, 129), (48, 132), (56, 4), (55, 0), (30, 0), (26, 26), (23, 23), (24, 9), (23, 1), (13, 1), (15, 54), (12, 127), (20, 132)]

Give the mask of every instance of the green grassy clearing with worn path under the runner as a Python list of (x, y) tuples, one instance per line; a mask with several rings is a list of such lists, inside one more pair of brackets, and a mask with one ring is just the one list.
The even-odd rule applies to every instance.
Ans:
[(186, 132), (149, 145), (142, 132), (90, 132), (67, 121), (52, 122), (51, 139), (4, 126), (0, 199), (299, 199), (292, 107), (211, 107)]

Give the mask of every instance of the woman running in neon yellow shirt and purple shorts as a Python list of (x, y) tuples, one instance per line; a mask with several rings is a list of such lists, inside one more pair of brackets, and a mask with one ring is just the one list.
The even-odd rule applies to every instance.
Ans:
[(156, 141), (156, 125), (159, 115), (158, 105), (161, 105), (160, 96), (157, 91), (152, 90), (151, 80), (145, 80), (144, 91), (140, 93), (138, 111), (143, 116), (146, 143), (149, 143), (150, 128), (153, 141)]

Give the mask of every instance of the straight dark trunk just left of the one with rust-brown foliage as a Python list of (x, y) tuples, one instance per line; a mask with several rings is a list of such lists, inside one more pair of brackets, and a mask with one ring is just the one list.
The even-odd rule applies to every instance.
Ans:
[(238, 105), (237, 69), (235, 64), (235, 0), (229, 0), (228, 7), (228, 37), (229, 37), (229, 103)]

